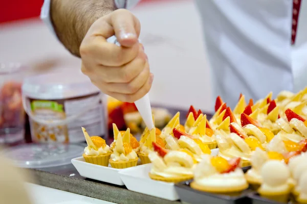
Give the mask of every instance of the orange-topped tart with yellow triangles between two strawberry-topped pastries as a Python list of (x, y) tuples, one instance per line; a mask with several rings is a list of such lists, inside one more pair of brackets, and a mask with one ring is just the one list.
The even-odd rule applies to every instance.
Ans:
[(200, 114), (190, 128), (189, 135), (195, 139), (200, 139), (204, 144), (208, 145), (209, 149), (214, 149), (217, 145), (215, 136), (211, 129), (206, 128), (206, 122), (207, 116)]

